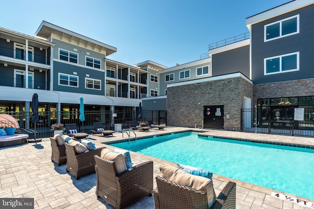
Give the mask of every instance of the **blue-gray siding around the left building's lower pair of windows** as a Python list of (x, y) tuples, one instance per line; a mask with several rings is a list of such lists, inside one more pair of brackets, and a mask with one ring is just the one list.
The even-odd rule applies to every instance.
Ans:
[[(69, 74), (69, 75), (74, 75), (73, 72), (77, 72), (76, 76), (78, 76), (78, 88), (59, 86), (58, 85), (58, 73), (59, 72)], [(101, 90), (85, 89), (86, 74), (89, 74), (88, 78), (101, 80)], [(78, 67), (75, 65), (53, 61), (53, 90), (54, 91), (105, 95), (104, 76), (105, 76), (104, 72), (101, 72), (98, 70), (91, 70), (91, 69)]]

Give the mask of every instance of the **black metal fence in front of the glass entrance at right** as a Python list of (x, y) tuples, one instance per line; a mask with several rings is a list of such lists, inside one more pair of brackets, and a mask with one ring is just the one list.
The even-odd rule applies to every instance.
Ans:
[(285, 109), (242, 109), (241, 131), (284, 134), (291, 136), (314, 136), (314, 109), (304, 108), (304, 120), (294, 120), (294, 108)]

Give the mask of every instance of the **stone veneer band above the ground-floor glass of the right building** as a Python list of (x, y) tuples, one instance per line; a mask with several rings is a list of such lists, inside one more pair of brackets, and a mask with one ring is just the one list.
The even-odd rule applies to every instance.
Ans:
[(292, 96), (313, 96), (314, 78), (284, 81), (276, 83), (257, 84), (253, 86), (253, 105), (258, 99), (280, 98)]

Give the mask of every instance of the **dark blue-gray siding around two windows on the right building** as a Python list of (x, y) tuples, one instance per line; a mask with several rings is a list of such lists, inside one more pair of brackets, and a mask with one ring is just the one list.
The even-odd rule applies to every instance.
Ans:
[[(300, 15), (300, 32), (264, 42), (264, 25)], [(310, 5), (252, 26), (252, 80), (254, 84), (314, 77), (314, 5)], [(299, 51), (299, 71), (264, 75), (264, 58)]]

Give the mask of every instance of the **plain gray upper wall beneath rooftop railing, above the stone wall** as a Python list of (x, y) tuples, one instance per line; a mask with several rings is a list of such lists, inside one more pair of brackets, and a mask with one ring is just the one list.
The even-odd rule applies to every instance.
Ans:
[(242, 46), (211, 56), (212, 76), (241, 72), (250, 77), (250, 46)]

